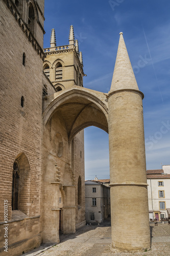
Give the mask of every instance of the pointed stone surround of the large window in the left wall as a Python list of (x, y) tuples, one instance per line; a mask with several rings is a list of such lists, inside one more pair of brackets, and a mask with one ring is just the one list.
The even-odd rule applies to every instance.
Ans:
[(30, 204), (30, 164), (25, 153), (20, 153), (14, 162), (19, 168), (19, 187), (18, 187), (18, 210), (29, 216)]

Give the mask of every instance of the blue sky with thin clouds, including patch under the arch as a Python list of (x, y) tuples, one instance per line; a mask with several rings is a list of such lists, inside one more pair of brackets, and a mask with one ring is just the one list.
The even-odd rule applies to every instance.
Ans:
[[(44, 48), (51, 29), (57, 45), (68, 44), (69, 26), (83, 54), (84, 87), (110, 90), (119, 32), (144, 93), (143, 115), (147, 169), (170, 164), (170, 2), (169, 0), (45, 0)], [(109, 178), (108, 134), (85, 129), (85, 179)]]

